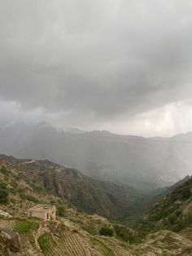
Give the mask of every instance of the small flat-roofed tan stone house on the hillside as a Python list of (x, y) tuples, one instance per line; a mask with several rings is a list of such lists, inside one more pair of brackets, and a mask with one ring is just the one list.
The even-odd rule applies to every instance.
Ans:
[(55, 205), (35, 205), (27, 210), (28, 218), (36, 217), (44, 220), (55, 220), (56, 208)]

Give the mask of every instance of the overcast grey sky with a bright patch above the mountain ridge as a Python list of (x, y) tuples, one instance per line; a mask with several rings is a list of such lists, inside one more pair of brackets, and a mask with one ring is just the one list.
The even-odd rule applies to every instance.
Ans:
[(192, 130), (191, 0), (0, 0), (0, 117)]

